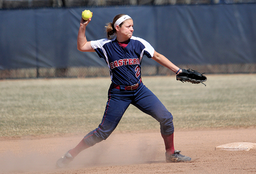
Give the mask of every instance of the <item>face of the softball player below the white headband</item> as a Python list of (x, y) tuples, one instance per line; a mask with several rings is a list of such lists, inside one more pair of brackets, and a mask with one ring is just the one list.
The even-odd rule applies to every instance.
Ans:
[(128, 40), (133, 36), (133, 20), (128, 19), (124, 21), (121, 27), (118, 27), (119, 32), (118, 35), (121, 36), (123, 39)]

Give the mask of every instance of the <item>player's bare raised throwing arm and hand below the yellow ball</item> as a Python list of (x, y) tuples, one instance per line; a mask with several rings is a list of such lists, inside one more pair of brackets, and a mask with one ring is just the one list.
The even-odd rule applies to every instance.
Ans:
[(77, 46), (78, 46), (78, 50), (82, 52), (95, 52), (94, 49), (91, 47), (91, 42), (87, 41), (85, 36), (86, 26), (89, 24), (90, 21), (91, 21), (91, 18), (89, 18), (88, 20), (84, 20), (83, 18), (81, 18), (80, 20)]

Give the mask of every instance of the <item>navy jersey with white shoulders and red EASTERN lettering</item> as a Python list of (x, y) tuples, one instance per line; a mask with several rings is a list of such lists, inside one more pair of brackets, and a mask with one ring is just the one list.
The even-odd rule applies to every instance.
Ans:
[(141, 61), (146, 55), (151, 58), (154, 48), (144, 39), (132, 36), (128, 45), (123, 48), (117, 39), (107, 38), (91, 41), (91, 47), (98, 56), (105, 59), (110, 69), (110, 77), (114, 84), (130, 86), (136, 84), (141, 76)]

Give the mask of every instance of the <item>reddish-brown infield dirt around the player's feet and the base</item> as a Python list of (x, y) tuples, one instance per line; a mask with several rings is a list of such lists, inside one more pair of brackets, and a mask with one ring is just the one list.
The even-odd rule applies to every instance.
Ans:
[(256, 143), (256, 128), (176, 130), (175, 149), (191, 162), (166, 163), (158, 131), (113, 133), (107, 140), (82, 151), (65, 169), (55, 163), (84, 135), (22, 137), (0, 140), (0, 173), (7, 174), (252, 174), (256, 149), (215, 151), (231, 142)]

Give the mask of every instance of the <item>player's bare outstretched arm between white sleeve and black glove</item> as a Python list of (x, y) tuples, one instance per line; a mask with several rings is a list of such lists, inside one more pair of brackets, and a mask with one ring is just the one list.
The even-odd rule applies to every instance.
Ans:
[[(154, 56), (152, 59), (156, 62), (158, 62), (160, 65), (165, 66), (166, 68), (169, 68), (173, 72), (177, 72), (180, 68), (178, 68), (176, 65), (174, 65), (169, 59), (167, 59), (164, 55), (154, 52)], [(182, 70), (179, 70), (178, 73), (182, 72)]]

